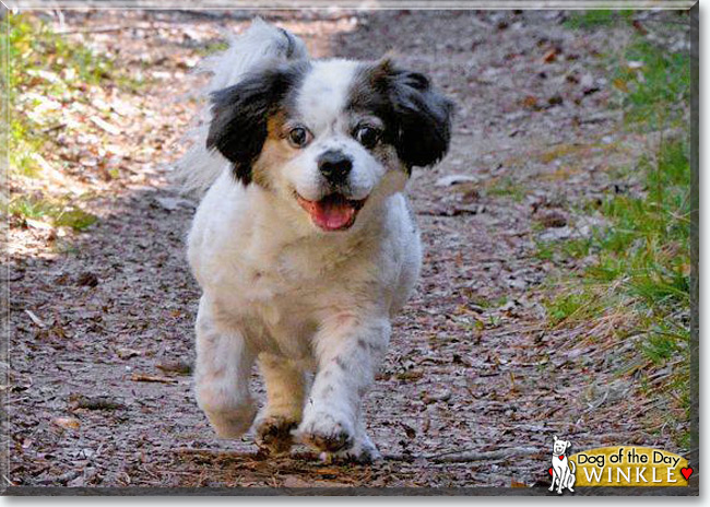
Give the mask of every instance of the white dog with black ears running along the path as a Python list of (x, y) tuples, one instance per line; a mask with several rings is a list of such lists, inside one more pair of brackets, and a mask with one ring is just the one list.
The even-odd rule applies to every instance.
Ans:
[(271, 452), (295, 437), (377, 458), (360, 403), (422, 261), (402, 192), (447, 152), (452, 103), (391, 59), (311, 60), (260, 20), (210, 70), (206, 121), (180, 164), (209, 188), (188, 248), (203, 291), (198, 403), (221, 437), (253, 424)]

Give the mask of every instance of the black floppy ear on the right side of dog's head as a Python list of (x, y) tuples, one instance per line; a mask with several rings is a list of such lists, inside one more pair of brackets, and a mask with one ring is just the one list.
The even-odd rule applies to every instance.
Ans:
[(436, 92), (424, 74), (397, 69), (389, 59), (380, 62), (379, 74), (387, 76), (399, 158), (407, 168), (439, 162), (449, 150), (453, 102)]

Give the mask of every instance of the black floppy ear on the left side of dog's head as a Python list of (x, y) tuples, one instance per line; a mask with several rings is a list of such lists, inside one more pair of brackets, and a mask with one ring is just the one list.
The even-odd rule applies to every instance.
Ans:
[(262, 70), (212, 94), (208, 149), (232, 162), (235, 177), (245, 185), (251, 181), (251, 166), (267, 140), (269, 118), (284, 109), (289, 92), (309, 68), (299, 61)]

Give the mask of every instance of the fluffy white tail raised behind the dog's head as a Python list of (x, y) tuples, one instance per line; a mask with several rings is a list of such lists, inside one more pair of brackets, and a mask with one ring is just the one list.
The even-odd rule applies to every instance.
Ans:
[[(224, 52), (206, 58), (198, 67), (198, 72), (212, 74), (212, 80), (200, 94), (203, 101), (212, 92), (237, 84), (246, 74), (259, 68), (308, 58), (306, 45), (300, 38), (260, 17), (255, 19), (239, 36), (229, 34), (228, 39), (229, 47)], [(186, 135), (185, 141), (190, 149), (175, 164), (176, 180), (186, 193), (203, 193), (228, 167), (227, 161), (218, 152), (206, 148), (211, 118), (210, 104), (204, 104)]]

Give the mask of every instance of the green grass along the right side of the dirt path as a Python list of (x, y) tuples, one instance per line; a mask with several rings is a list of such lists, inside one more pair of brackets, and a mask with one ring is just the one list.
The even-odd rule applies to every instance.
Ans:
[[(612, 21), (611, 14), (594, 15), (580, 26)], [(611, 78), (628, 130), (686, 129), (687, 56), (636, 36)], [(589, 340), (603, 341), (611, 350), (634, 339), (637, 355), (630, 362), (641, 359), (640, 378), (662, 372), (652, 385), (646, 384), (648, 396), (667, 396), (673, 416), (682, 418), (689, 410), (689, 151), (687, 139), (677, 133), (658, 139), (646, 156), (608, 169), (611, 180), (628, 191), (610, 192), (573, 210), (572, 216), (592, 215), (603, 226), (587, 237), (537, 240), (536, 256), (556, 264), (560, 273), (544, 302), (548, 326), (585, 326), (592, 330)], [(683, 445), (688, 435), (677, 432), (675, 437)]]

